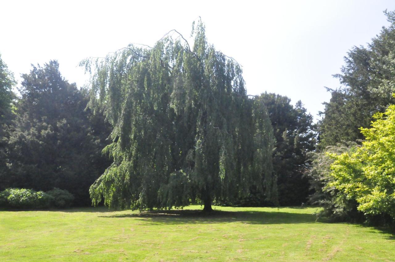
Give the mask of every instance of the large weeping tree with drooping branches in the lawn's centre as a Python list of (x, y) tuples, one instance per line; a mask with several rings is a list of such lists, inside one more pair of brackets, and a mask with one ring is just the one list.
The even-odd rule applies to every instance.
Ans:
[[(169, 33), (177, 34), (173, 39)], [(246, 95), (239, 64), (176, 30), (154, 47), (129, 45), (81, 62), (89, 107), (113, 125), (113, 164), (90, 187), (94, 205), (152, 209), (232, 202), (250, 190), (276, 203), (273, 130), (261, 100)]]

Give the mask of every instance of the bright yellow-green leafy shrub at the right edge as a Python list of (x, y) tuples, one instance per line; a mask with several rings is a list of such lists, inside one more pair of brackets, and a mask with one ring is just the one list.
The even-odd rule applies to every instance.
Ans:
[(395, 218), (395, 105), (377, 113), (370, 129), (355, 152), (332, 154), (335, 187), (347, 199), (355, 199), (365, 214), (388, 214)]

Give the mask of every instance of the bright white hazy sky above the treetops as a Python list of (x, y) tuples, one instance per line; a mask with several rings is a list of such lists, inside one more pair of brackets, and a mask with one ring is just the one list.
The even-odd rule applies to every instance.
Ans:
[(0, 2), (0, 54), (19, 79), (30, 64), (58, 60), (82, 86), (77, 64), (128, 43), (153, 45), (176, 29), (189, 36), (201, 16), (208, 41), (243, 66), (248, 94), (275, 92), (316, 114), (337, 88), (343, 56), (387, 25), (390, 0), (17, 1)]

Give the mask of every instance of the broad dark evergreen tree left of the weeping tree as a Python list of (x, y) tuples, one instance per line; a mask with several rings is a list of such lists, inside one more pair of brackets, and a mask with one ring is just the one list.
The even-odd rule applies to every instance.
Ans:
[(70, 191), (87, 204), (90, 184), (108, 165), (101, 149), (109, 129), (85, 107), (86, 90), (69, 84), (56, 61), (24, 74), (16, 116), (2, 138), (6, 170), (0, 187)]

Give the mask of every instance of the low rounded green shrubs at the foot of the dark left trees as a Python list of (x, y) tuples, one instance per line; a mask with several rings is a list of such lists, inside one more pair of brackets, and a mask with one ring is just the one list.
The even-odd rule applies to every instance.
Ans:
[(54, 188), (47, 193), (32, 189), (8, 188), (0, 192), (0, 207), (45, 209), (65, 208), (73, 202), (73, 195), (68, 191)]

